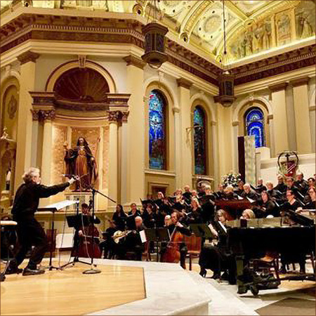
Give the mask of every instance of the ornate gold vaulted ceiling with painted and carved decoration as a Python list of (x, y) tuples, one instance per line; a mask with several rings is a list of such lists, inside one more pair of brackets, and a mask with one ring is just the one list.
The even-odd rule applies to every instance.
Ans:
[[(19, 0), (1, 0), (6, 11)], [(154, 1), (103, 0), (22, 0), (29, 6), (77, 8), (121, 13), (154, 15)], [(157, 1), (156, 1), (157, 2)], [(286, 46), (304, 46), (315, 38), (315, 0), (242, 1), (225, 0), (228, 55), (223, 60), (223, 1), (159, 1), (159, 18), (169, 33), (183, 41), (183, 46), (203, 51), (211, 59), (230, 64)], [(310, 44), (310, 43), (309, 43)]]

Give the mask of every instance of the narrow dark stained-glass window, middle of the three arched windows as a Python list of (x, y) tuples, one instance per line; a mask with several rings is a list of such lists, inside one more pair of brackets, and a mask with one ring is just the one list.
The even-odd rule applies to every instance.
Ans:
[(195, 174), (206, 174), (206, 117), (202, 107), (193, 114), (195, 142)]

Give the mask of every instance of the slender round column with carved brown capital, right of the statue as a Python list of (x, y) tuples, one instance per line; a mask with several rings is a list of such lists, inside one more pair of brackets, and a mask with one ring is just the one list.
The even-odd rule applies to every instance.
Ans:
[[(109, 197), (118, 202), (119, 185), (119, 111), (108, 111), (110, 122), (109, 131)], [(114, 209), (115, 204), (109, 200), (109, 209)]]

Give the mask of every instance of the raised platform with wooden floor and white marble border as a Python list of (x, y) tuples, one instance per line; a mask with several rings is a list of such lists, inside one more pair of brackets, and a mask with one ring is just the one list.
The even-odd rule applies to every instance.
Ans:
[(84, 275), (88, 265), (76, 263), (39, 276), (8, 275), (1, 282), (1, 315), (209, 314), (211, 297), (178, 264), (95, 263), (100, 274)]

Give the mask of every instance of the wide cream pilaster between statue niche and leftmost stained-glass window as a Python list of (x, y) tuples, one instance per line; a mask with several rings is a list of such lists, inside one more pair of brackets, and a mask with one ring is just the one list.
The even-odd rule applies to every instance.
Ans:
[(124, 58), (127, 65), (127, 93), (129, 99), (129, 123), (124, 126), (122, 133), (124, 143), (124, 157), (126, 166), (123, 167), (122, 184), (126, 182), (124, 204), (140, 203), (145, 199), (145, 102), (144, 102), (144, 71), (145, 62), (138, 57), (129, 55)]

